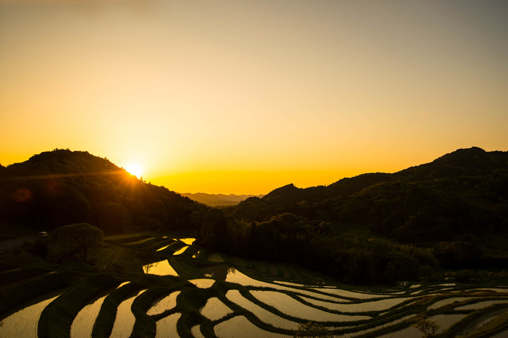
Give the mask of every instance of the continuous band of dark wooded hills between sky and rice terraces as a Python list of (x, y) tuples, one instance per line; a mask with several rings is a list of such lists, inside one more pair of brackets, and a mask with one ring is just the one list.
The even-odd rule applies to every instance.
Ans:
[(350, 284), (440, 281), (450, 270), (469, 282), (508, 266), (508, 153), (480, 148), (394, 174), (290, 184), (221, 210), (106, 158), (55, 149), (0, 167), (0, 206), (3, 228), (194, 230), (208, 250), (296, 263)]

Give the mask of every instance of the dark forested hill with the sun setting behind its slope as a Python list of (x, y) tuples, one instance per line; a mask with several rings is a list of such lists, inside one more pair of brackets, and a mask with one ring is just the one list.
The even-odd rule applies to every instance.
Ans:
[(208, 208), (145, 183), (107, 158), (55, 149), (0, 166), (0, 222), (39, 229), (86, 222), (106, 233), (199, 227)]

